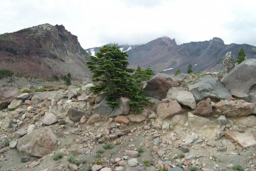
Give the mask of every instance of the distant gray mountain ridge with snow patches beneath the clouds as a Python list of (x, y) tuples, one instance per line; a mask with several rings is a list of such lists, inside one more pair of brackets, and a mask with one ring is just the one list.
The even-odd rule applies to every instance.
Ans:
[[(122, 45), (120, 48), (125, 48)], [(152, 67), (157, 73), (175, 73), (178, 69), (186, 72), (189, 63), (194, 71), (221, 70), (221, 59), (231, 51), (237, 58), (238, 51), (243, 48), (247, 58), (256, 58), (256, 47), (247, 44), (225, 45), (221, 38), (214, 37), (209, 41), (189, 42), (177, 45), (175, 39), (160, 37), (144, 45), (131, 46), (129, 51), (130, 66), (136, 68)], [(97, 52), (98, 48), (94, 48)], [(125, 49), (127, 50), (127, 48)], [(90, 53), (90, 49), (88, 50)]]

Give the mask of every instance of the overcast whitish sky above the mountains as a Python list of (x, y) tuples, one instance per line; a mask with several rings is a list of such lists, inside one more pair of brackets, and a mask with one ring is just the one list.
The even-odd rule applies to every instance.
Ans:
[(161, 36), (178, 44), (220, 37), (256, 46), (256, 1), (0, 0), (0, 33), (64, 25), (83, 48), (143, 44)]

